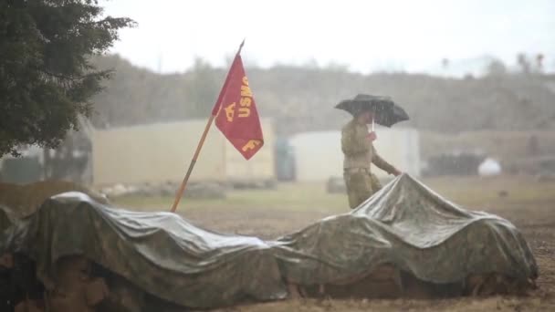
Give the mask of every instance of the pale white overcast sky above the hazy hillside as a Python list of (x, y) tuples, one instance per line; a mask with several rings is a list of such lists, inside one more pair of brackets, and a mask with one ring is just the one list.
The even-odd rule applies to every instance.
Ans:
[(352, 71), (426, 71), (441, 59), (546, 55), (555, 70), (555, 1), (550, 0), (101, 0), (105, 14), (139, 26), (120, 32), (111, 52), (135, 65), (184, 71), (202, 57), (224, 66), (243, 38), (246, 64)]

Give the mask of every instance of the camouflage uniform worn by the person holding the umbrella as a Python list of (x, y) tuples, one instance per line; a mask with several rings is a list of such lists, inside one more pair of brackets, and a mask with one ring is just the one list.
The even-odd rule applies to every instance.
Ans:
[(377, 154), (367, 135), (368, 126), (354, 119), (341, 130), (341, 150), (345, 155), (343, 178), (351, 209), (382, 188), (382, 184), (370, 172), (371, 163), (390, 174), (395, 172), (395, 167)]

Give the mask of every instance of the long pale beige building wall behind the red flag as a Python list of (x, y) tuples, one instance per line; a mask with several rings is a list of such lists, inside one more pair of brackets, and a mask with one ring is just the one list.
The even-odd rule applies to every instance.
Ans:
[[(273, 179), (273, 129), (261, 120), (265, 147), (246, 161), (213, 126), (190, 181)], [(201, 139), (206, 120), (95, 130), (93, 184), (181, 182)]]

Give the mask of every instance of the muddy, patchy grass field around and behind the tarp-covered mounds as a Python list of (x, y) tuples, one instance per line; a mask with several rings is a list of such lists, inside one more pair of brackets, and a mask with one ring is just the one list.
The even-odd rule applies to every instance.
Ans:
[[(447, 300), (299, 299), (246, 305), (220, 311), (555, 311), (555, 182), (533, 177), (424, 180), (445, 198), (468, 209), (496, 213), (526, 236), (539, 264), (538, 289), (529, 296), (493, 296)], [(168, 210), (170, 198), (125, 198), (117, 204)], [(347, 211), (343, 194), (325, 192), (323, 184), (280, 184), (270, 191), (228, 192), (225, 200), (189, 200), (179, 213), (216, 231), (276, 238), (321, 217)]]

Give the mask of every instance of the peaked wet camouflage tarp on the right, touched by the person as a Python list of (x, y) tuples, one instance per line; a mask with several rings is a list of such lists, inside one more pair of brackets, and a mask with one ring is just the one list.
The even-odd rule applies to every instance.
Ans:
[(518, 229), (465, 210), (408, 174), (351, 213), (330, 216), (274, 244), (281, 274), (300, 285), (350, 279), (392, 264), (437, 284), (470, 274), (535, 279), (538, 266)]

